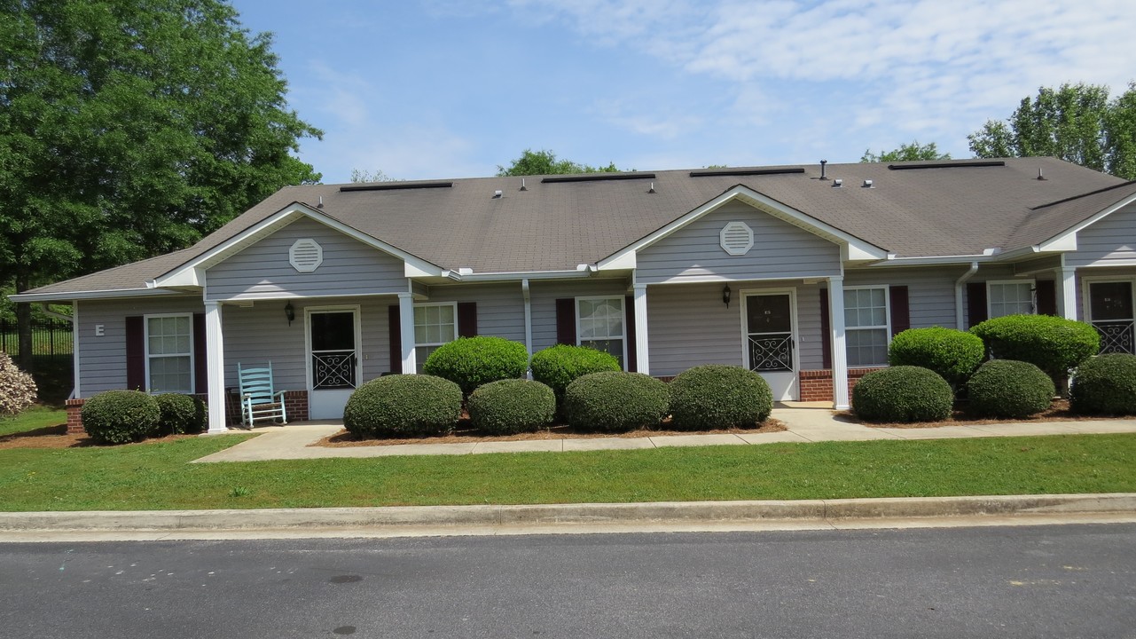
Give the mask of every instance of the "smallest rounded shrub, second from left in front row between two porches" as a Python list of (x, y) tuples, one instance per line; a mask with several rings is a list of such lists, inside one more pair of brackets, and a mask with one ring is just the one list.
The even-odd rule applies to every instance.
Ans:
[(552, 423), (557, 396), (541, 382), (500, 380), (469, 396), (469, 422), (493, 434), (532, 432)]

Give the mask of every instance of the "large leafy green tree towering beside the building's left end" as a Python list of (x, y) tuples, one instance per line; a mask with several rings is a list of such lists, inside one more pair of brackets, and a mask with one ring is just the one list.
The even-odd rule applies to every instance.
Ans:
[[(227, 2), (0, 0), (0, 283), (183, 248), (319, 180), (292, 152), (323, 133)], [(26, 304), (17, 318), (31, 354)]]

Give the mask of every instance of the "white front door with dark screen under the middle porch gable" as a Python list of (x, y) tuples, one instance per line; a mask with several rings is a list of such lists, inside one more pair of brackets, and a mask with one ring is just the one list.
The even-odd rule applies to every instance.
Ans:
[(746, 293), (742, 302), (745, 365), (769, 382), (775, 400), (797, 397), (794, 301), (792, 291), (777, 291)]

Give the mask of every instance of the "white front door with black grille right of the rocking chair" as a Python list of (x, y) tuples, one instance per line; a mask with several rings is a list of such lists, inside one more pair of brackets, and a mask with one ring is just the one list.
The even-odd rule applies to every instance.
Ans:
[(359, 309), (308, 309), (308, 415), (343, 417), (359, 383)]

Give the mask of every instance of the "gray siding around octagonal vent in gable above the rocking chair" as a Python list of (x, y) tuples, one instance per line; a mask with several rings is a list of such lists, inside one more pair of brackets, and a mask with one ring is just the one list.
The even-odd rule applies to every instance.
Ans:
[[(301, 238), (323, 247), (324, 262), (311, 273), (289, 263)], [(299, 219), (206, 273), (208, 299), (331, 297), (408, 291), (403, 262), (314, 219)]]

